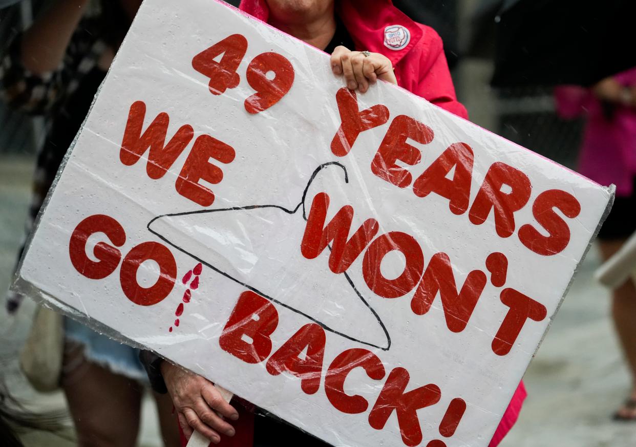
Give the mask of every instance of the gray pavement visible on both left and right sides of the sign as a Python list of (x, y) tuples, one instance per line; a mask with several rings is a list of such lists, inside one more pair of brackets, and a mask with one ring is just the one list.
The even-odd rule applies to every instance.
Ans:
[[(31, 158), (0, 156), (0, 291), (6, 290), (15, 254), (22, 240), (29, 201)], [(628, 393), (629, 381), (621, 362), (609, 319), (609, 294), (591, 279), (598, 266), (593, 249), (581, 266), (569, 296), (525, 375), (529, 397), (520, 420), (502, 447), (633, 447), (636, 423), (611, 422), (612, 411)], [(32, 305), (15, 319), (0, 311), (0, 361), (17, 396), (30, 408), (64, 408), (64, 397), (34, 392), (15, 361), (27, 333)], [(140, 444), (160, 446), (153, 406), (144, 401)], [(72, 431), (69, 427), (69, 434)], [(29, 434), (32, 447), (66, 447), (73, 441)]]

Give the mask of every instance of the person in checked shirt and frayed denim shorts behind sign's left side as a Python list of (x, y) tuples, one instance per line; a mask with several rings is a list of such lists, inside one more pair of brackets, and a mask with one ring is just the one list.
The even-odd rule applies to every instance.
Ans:
[[(66, 150), (88, 113), (141, 0), (58, 0), (10, 41), (2, 60), (0, 95), (11, 109), (43, 117), (27, 231), (43, 204)], [(22, 296), (10, 292), (15, 313)], [(134, 348), (63, 319), (59, 384), (79, 446), (133, 447), (146, 374)], [(178, 444), (172, 405), (156, 395), (165, 446)]]

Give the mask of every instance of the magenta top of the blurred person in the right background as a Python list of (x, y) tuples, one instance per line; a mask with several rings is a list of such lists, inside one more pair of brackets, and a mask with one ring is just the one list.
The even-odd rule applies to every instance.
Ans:
[[(636, 84), (636, 67), (614, 79), (624, 86)], [(588, 116), (577, 170), (598, 184), (616, 185), (616, 195), (630, 196), (636, 175), (636, 109), (616, 106), (610, 120), (591, 90), (579, 86), (555, 88), (556, 109), (563, 118)]]

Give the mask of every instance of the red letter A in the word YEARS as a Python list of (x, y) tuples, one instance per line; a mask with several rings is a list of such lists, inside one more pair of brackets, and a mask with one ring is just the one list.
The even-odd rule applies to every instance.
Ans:
[[(446, 175), (455, 168), (453, 179)], [(446, 149), (413, 183), (418, 197), (436, 193), (448, 199), (453, 214), (464, 214), (471, 197), (473, 149), (466, 143), (455, 143)]]

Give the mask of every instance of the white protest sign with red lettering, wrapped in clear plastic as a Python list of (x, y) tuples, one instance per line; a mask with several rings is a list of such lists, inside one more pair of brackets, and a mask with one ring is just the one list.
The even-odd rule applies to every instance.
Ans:
[(338, 446), (487, 446), (613, 197), (210, 0), (147, 0), (15, 287)]

